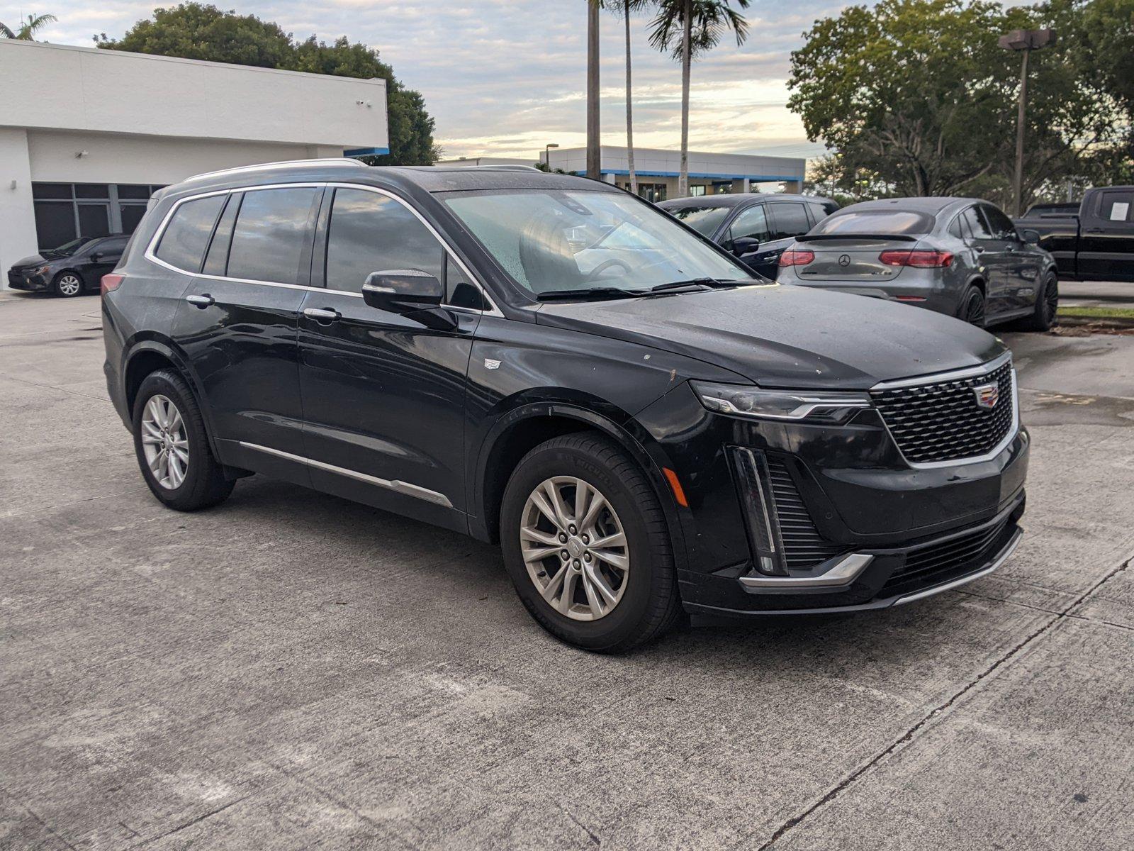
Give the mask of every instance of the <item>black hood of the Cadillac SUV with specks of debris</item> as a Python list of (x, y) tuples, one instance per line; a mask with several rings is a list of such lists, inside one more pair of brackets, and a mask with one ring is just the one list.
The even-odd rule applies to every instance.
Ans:
[(548, 302), (536, 322), (695, 357), (763, 387), (866, 389), (1005, 351), (988, 331), (924, 307), (780, 284)]

